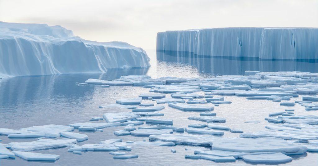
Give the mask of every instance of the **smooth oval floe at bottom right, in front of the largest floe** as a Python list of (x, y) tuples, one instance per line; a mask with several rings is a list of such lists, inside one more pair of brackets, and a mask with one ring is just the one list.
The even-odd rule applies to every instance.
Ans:
[(244, 161), (251, 163), (286, 163), (292, 161), (292, 158), (282, 153), (269, 153), (259, 155), (244, 155)]

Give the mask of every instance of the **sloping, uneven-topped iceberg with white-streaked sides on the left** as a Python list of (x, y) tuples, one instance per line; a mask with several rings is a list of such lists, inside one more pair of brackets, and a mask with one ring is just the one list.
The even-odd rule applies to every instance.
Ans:
[(99, 73), (108, 68), (147, 67), (149, 60), (142, 48), (84, 40), (59, 25), (0, 22), (0, 78)]

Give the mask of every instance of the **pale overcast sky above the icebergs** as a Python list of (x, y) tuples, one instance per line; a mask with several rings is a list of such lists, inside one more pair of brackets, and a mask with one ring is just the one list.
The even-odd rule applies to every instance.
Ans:
[(0, 0), (0, 21), (156, 49), (156, 33), (167, 30), (318, 27), (318, 0)]

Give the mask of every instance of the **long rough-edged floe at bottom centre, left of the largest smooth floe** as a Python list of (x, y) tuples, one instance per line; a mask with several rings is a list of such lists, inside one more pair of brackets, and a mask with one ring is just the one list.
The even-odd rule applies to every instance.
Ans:
[(151, 141), (165, 141), (174, 142), (179, 145), (193, 145), (193, 146), (210, 146), (211, 136), (209, 135), (184, 135), (184, 134), (163, 134), (150, 135)]

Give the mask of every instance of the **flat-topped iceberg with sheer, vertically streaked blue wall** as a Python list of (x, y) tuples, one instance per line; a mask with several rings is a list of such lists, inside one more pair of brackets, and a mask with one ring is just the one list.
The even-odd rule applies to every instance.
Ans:
[(260, 59), (318, 59), (318, 28), (208, 28), (157, 33), (157, 50)]

